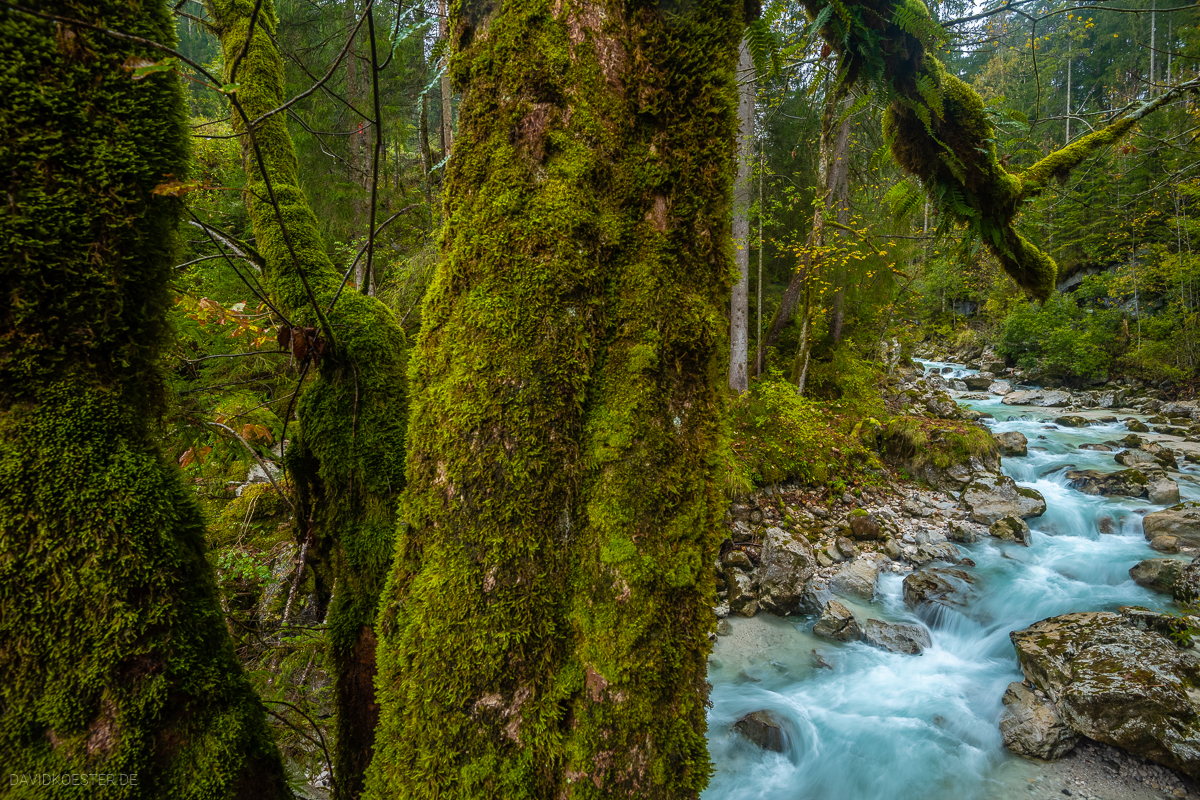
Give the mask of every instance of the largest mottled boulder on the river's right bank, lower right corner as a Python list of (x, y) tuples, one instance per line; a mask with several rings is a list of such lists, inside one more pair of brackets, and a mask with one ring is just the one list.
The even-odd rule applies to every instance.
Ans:
[(1134, 620), (1163, 615), (1122, 612), (1064, 614), (1014, 631), (1021, 670), (1074, 733), (1200, 777), (1200, 692), (1192, 688), (1200, 655), (1150, 630), (1153, 620)]

